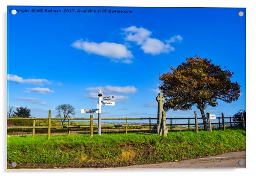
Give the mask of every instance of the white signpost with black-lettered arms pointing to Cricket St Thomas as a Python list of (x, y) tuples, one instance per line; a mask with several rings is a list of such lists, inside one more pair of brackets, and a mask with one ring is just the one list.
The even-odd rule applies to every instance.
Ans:
[(98, 135), (101, 135), (101, 105), (114, 106), (115, 102), (109, 102), (112, 100), (116, 100), (117, 96), (103, 96), (102, 91), (98, 92), (99, 101), (97, 104), (97, 109), (81, 109), (81, 113), (97, 113), (98, 114)]

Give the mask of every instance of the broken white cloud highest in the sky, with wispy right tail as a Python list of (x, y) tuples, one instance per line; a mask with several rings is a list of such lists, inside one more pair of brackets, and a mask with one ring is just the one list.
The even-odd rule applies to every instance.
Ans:
[[(173, 36), (170, 40), (165, 42), (159, 40), (158, 38), (150, 37), (152, 32), (143, 27), (130, 26), (122, 29), (125, 34), (126, 41), (135, 42), (137, 45), (141, 46), (141, 49), (146, 54), (158, 55), (161, 53), (169, 53), (170, 51), (174, 51), (174, 47), (172, 47), (169, 43), (173, 40), (182, 41), (182, 36), (177, 35)], [(169, 42), (170, 41), (170, 42)]]

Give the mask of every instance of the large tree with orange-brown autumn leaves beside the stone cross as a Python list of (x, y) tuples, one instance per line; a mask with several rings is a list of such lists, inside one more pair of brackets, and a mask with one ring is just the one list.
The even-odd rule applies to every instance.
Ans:
[(159, 77), (159, 89), (166, 100), (164, 109), (191, 110), (196, 105), (206, 128), (205, 108), (216, 107), (218, 99), (227, 103), (238, 100), (240, 85), (231, 82), (233, 72), (222, 70), (207, 58), (195, 56), (186, 61)]

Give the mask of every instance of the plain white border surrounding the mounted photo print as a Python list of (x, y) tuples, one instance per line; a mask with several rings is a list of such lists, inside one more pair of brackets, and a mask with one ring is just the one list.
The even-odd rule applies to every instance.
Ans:
[[(246, 110), (247, 110), (247, 136), (246, 136), (246, 169), (186, 169), (186, 170), (93, 170), (93, 171), (85, 171), (89, 172), (90, 175), (99, 175), (103, 174), (106, 176), (113, 175), (131, 175), (131, 172), (141, 174), (145, 173), (147, 175), (156, 175), (161, 172), (162, 174), (186, 174), (186, 175), (214, 175), (216, 176), (219, 172), (225, 174), (233, 175), (247, 175), (253, 173), (255, 170), (255, 135), (253, 129), (255, 128), (253, 125), (256, 119), (253, 115), (253, 110), (255, 109), (254, 99), (255, 96), (255, 87), (253, 80), (255, 80), (255, 66), (256, 66), (256, 53), (255, 53), (255, 40), (256, 40), (256, 25), (255, 25), (255, 17), (256, 17), (256, 9), (253, 4), (253, 0), (176, 0), (176, 1), (167, 1), (167, 0), (1, 0), (1, 38), (0, 42), (1, 48), (1, 101), (0, 101), (0, 112), (1, 112), (1, 152), (2, 157), (0, 159), (1, 162), (1, 170), (2, 172), (6, 172), (6, 6), (7, 5), (48, 5), (48, 6), (140, 6), (140, 7), (242, 7), (246, 8)], [(249, 96), (248, 96), (249, 95)], [(4, 97), (4, 98), (3, 98)], [(254, 122), (254, 124), (253, 124)], [(7, 171), (9, 172), (9, 171)], [(11, 172), (11, 175), (34, 175), (35, 173), (25, 173), (25, 172)], [(34, 171), (33, 171), (34, 172)], [(37, 175), (46, 175), (45, 172), (52, 172), (47, 170), (38, 171)], [(62, 171), (62, 175), (70, 175), (70, 172), (74, 172), (74, 170), (65, 170)], [(82, 171), (76, 171), (82, 174)], [(164, 173), (163, 173), (164, 172)], [(8, 173), (4, 173), (8, 174)], [(254, 172), (255, 174), (255, 172)]]

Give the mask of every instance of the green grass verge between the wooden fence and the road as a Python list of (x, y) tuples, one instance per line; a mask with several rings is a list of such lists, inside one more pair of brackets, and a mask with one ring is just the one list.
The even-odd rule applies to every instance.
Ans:
[(111, 167), (166, 162), (245, 150), (245, 130), (7, 138), (7, 166), (18, 168)]

